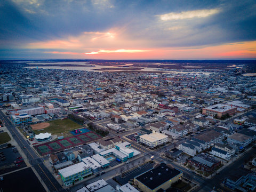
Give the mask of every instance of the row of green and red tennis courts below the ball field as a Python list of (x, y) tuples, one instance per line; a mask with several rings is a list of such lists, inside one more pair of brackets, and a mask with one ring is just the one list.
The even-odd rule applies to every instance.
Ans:
[(38, 151), (38, 153), (43, 156), (46, 154), (51, 154), (57, 151), (64, 150), (66, 148), (83, 145), (84, 143), (89, 143), (100, 138), (101, 137), (98, 134), (89, 131), (83, 134), (74, 135), (72, 137), (67, 137), (60, 140), (45, 142), (34, 147)]

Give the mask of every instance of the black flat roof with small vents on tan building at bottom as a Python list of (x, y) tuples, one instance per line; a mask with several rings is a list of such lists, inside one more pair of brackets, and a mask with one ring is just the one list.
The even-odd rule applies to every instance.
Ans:
[(147, 171), (135, 177), (138, 181), (143, 183), (143, 185), (147, 186), (151, 190), (161, 186), (163, 183), (169, 181), (170, 179), (176, 177), (182, 173), (177, 169), (173, 169), (168, 167), (165, 163), (161, 163), (158, 167)]

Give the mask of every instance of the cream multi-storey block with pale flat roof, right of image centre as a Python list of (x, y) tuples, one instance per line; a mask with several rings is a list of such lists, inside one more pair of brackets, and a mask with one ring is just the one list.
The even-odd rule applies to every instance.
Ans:
[(167, 139), (167, 135), (162, 133), (156, 133), (155, 131), (153, 131), (153, 133), (151, 134), (140, 135), (140, 142), (150, 148), (154, 148), (158, 145), (166, 143), (168, 141)]

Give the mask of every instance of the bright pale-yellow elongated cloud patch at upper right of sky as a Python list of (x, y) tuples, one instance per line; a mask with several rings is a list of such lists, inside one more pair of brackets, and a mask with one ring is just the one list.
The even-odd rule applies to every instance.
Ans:
[(219, 9), (210, 9), (210, 10), (194, 10), (194, 11), (185, 11), (181, 13), (167, 13), (162, 15), (157, 15), (163, 21), (170, 20), (182, 20), (182, 19), (192, 19), (192, 18), (204, 18), (210, 15), (220, 12)]

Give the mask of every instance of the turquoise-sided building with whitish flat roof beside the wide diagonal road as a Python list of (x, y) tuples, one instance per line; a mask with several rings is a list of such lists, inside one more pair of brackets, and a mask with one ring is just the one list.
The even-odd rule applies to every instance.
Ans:
[(85, 177), (93, 174), (91, 167), (84, 162), (66, 167), (58, 171), (65, 186), (70, 186), (74, 182), (83, 180)]

